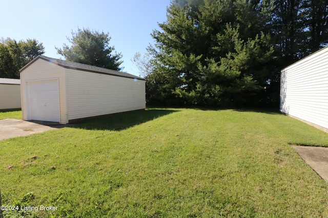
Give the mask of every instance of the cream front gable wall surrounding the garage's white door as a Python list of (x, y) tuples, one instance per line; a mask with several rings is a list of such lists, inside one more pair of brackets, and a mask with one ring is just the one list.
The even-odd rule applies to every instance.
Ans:
[(38, 59), (22, 72), (20, 72), (20, 87), (22, 92), (22, 115), (27, 120), (27, 94), (26, 83), (31, 81), (48, 81), (57, 79), (59, 90), (59, 115), (60, 123), (66, 124), (66, 85), (65, 85), (65, 68), (43, 59)]

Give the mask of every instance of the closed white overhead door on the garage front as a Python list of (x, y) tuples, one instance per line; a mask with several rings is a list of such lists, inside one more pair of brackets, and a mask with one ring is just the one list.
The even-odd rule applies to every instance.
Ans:
[(28, 119), (59, 122), (58, 81), (27, 83)]

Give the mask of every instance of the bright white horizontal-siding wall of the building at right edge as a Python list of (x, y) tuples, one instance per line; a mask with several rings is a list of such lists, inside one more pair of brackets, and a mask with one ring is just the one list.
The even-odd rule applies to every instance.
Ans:
[(280, 111), (328, 130), (328, 46), (281, 70)]

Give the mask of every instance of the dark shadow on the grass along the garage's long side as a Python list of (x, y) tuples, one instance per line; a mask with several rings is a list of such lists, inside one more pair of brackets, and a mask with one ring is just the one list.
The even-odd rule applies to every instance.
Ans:
[(139, 111), (110, 114), (100, 117), (86, 118), (74, 122), (73, 128), (87, 130), (125, 130), (135, 125), (165, 116), (178, 110), (147, 109)]

